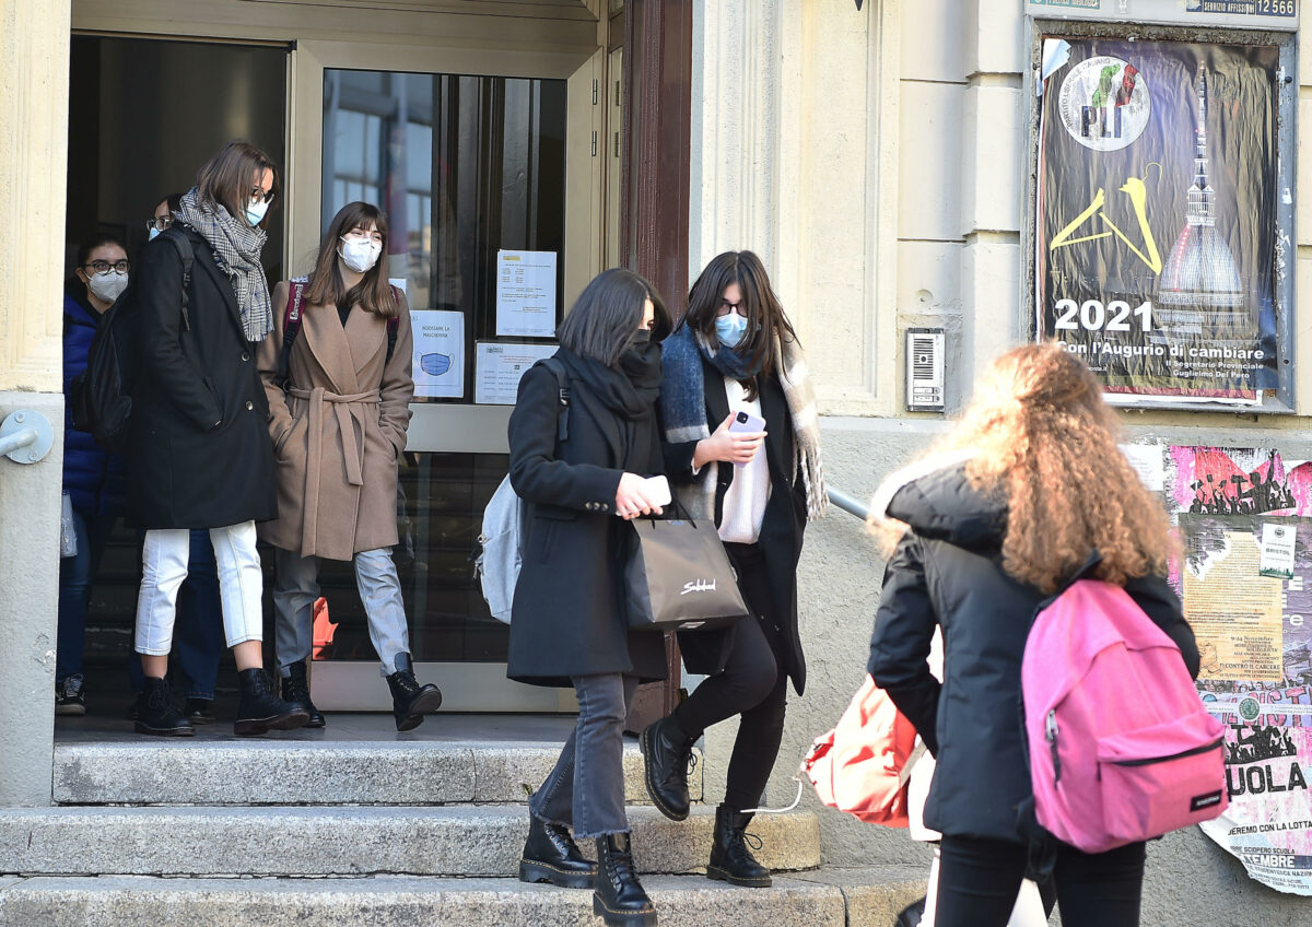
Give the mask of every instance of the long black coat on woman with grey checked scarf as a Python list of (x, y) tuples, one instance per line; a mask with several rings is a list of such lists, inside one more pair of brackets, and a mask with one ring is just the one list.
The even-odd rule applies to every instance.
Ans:
[[(189, 325), (172, 235), (195, 254)], [(136, 274), (129, 518), (213, 528), (277, 517), (269, 401), (227, 274), (203, 237), (177, 226), (146, 245)]]

